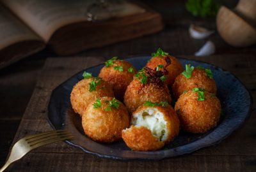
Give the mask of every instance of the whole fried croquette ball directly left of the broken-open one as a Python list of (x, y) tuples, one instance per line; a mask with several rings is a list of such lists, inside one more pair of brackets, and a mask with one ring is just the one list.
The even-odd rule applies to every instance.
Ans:
[(82, 116), (84, 133), (94, 141), (112, 143), (129, 126), (129, 113), (114, 97), (100, 97), (88, 104)]

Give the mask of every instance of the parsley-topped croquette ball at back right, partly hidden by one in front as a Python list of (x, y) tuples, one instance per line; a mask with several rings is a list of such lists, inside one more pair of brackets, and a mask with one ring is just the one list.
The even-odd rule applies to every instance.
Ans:
[(217, 87), (211, 69), (194, 68), (190, 64), (186, 64), (186, 71), (180, 73), (173, 83), (173, 95), (178, 99), (184, 91), (191, 90), (194, 87), (216, 93)]

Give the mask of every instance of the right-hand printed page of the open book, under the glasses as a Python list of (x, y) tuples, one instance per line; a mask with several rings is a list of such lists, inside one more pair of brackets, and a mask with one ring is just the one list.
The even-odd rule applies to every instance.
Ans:
[[(60, 27), (87, 20), (86, 9), (96, 0), (3, 0), (3, 3), (17, 14), (45, 42)], [(118, 7), (118, 17), (142, 12), (143, 9), (131, 3)], [(116, 9), (115, 9), (116, 10)]]

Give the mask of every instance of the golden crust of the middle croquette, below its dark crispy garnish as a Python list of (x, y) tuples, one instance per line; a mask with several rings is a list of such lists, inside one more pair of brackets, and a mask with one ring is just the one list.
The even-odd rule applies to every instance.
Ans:
[(156, 83), (147, 83), (143, 85), (138, 79), (134, 78), (128, 85), (124, 95), (124, 103), (129, 113), (136, 110), (145, 101), (172, 102), (167, 85), (159, 86)]

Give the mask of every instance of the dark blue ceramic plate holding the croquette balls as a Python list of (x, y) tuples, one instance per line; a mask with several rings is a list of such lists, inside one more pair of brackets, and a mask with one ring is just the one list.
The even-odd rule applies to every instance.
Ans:
[[(137, 69), (143, 68), (149, 56), (127, 59)], [(221, 101), (223, 115), (218, 125), (204, 134), (190, 134), (180, 132), (179, 136), (161, 150), (155, 152), (137, 152), (128, 148), (124, 141), (112, 144), (102, 144), (87, 138), (83, 133), (81, 118), (75, 114), (70, 104), (70, 92), (73, 86), (81, 80), (83, 71), (72, 76), (52, 91), (49, 103), (49, 122), (54, 129), (67, 129), (74, 135), (74, 139), (67, 141), (70, 145), (81, 148), (84, 152), (112, 159), (163, 159), (177, 155), (188, 154), (203, 147), (209, 147), (230, 135), (249, 116), (252, 97), (243, 83), (236, 76), (221, 68), (204, 62), (179, 59), (183, 66), (203, 66), (212, 70), (218, 87), (217, 97)], [(84, 69), (93, 76), (98, 76), (104, 64)]]

